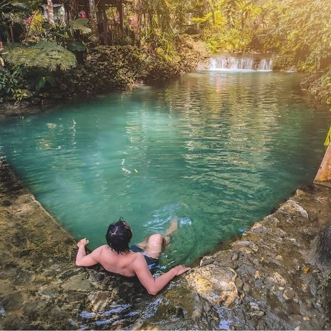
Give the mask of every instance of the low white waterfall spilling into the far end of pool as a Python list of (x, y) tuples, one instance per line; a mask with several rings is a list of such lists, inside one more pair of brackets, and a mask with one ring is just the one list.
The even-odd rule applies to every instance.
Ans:
[(272, 70), (272, 59), (254, 60), (248, 58), (235, 58), (231, 56), (214, 57), (210, 59), (210, 70), (236, 69), (236, 70)]

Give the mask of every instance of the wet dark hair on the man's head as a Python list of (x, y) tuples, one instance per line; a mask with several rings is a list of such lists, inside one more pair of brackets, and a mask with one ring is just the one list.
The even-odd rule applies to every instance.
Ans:
[(109, 225), (106, 240), (109, 247), (117, 254), (129, 251), (129, 242), (132, 238), (132, 231), (123, 217), (119, 217), (118, 222)]

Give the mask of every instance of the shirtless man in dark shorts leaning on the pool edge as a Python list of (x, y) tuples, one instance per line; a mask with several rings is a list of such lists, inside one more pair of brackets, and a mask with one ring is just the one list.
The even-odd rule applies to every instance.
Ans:
[(171, 221), (165, 235), (152, 234), (142, 243), (130, 246), (132, 230), (123, 217), (109, 225), (106, 240), (108, 245), (96, 248), (92, 253), (85, 252), (86, 238), (78, 243), (76, 265), (88, 267), (100, 263), (107, 271), (126, 277), (137, 276), (149, 294), (155, 295), (175, 276), (190, 270), (189, 267), (177, 265), (163, 275), (154, 278), (151, 270), (158, 265), (162, 247), (169, 243), (169, 235), (176, 231), (177, 221)]

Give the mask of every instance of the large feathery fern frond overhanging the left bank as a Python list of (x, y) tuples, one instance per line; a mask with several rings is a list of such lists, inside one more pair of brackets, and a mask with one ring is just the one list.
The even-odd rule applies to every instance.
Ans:
[(55, 42), (41, 41), (35, 45), (8, 44), (3, 53), (6, 62), (27, 68), (66, 70), (76, 65), (74, 54)]

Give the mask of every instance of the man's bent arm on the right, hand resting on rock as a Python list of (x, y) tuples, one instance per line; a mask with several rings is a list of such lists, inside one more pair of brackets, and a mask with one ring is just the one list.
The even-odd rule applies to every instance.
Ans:
[(173, 277), (179, 276), (190, 269), (191, 268), (189, 267), (178, 265), (163, 275), (154, 278), (149, 271), (147, 262), (142, 254), (139, 254), (134, 261), (134, 272), (147, 292), (152, 295), (159, 293)]

